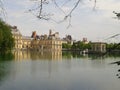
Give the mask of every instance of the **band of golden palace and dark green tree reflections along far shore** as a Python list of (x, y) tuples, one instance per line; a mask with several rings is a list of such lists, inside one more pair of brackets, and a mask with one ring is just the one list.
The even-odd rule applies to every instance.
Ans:
[[(88, 54), (81, 54), (79, 52), (62, 52), (62, 51), (52, 51), (52, 52), (38, 52), (38, 51), (14, 51), (13, 52), (14, 60), (22, 61), (22, 60), (69, 60), (73, 58), (81, 58), (81, 59), (91, 59), (91, 60), (104, 60), (108, 57), (110, 58), (117, 58), (120, 55), (116, 54), (109, 54), (109, 55), (88, 55)], [(13, 58), (12, 56), (12, 58)], [(2, 57), (3, 58), (3, 57)], [(10, 55), (5, 57), (10, 58)]]

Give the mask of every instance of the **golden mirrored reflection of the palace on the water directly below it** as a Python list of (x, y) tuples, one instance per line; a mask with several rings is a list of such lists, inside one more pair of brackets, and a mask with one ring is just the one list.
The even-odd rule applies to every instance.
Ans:
[(13, 52), (16, 61), (22, 60), (62, 60), (62, 51), (21, 51), (17, 50)]

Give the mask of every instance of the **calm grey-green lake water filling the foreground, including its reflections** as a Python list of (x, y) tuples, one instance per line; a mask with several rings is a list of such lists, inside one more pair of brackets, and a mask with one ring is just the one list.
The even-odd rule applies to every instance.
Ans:
[(16, 51), (0, 55), (0, 90), (120, 90), (120, 56)]

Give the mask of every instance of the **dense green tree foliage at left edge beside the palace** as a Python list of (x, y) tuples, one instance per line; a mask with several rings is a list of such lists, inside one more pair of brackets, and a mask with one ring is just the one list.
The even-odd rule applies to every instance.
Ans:
[(0, 52), (11, 50), (14, 47), (11, 28), (0, 20)]

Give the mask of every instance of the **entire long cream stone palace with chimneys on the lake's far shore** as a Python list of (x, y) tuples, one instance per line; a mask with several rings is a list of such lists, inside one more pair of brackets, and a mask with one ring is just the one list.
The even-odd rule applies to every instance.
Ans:
[(15, 49), (31, 49), (41, 51), (62, 51), (62, 41), (59, 38), (59, 33), (49, 31), (49, 35), (38, 36), (34, 31), (32, 38), (22, 36), (16, 26), (11, 27), (13, 38), (15, 39)]

